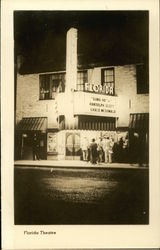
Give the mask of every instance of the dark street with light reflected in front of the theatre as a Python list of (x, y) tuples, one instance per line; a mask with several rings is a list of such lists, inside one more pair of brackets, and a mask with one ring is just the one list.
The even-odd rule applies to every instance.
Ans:
[(148, 169), (16, 167), (16, 225), (149, 223)]

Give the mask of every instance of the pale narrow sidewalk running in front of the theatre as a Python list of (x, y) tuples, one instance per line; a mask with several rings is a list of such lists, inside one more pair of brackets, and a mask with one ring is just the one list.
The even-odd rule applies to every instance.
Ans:
[(91, 164), (85, 161), (76, 160), (18, 160), (14, 162), (15, 167), (49, 167), (49, 168), (123, 168), (123, 169), (148, 169), (146, 166), (139, 166), (138, 164), (129, 163), (98, 163)]

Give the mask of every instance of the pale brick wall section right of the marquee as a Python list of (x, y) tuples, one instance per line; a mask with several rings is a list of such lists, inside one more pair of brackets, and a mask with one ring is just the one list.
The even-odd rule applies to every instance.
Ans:
[(120, 127), (128, 126), (131, 113), (148, 113), (148, 94), (137, 94), (136, 66), (126, 65), (115, 68), (115, 93)]

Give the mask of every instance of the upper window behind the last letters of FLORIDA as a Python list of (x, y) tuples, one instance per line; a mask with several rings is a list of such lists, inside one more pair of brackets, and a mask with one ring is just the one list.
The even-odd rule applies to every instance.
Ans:
[(107, 95), (115, 94), (114, 68), (106, 68), (101, 71), (101, 84)]

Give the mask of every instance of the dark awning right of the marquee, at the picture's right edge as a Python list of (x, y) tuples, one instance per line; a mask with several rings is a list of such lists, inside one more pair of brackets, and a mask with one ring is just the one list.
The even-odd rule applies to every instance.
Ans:
[(130, 114), (129, 128), (135, 130), (148, 130), (149, 127), (149, 114), (139, 113)]

